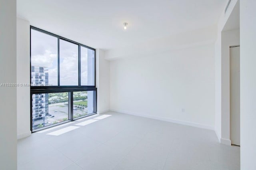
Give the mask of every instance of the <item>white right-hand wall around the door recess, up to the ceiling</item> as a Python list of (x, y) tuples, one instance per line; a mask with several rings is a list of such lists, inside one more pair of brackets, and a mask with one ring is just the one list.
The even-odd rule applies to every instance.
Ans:
[(218, 36), (215, 43), (215, 132), (220, 142), (227, 145), (231, 145), (229, 47), (240, 45), (240, 30), (237, 28), (237, 23), (234, 23), (238, 22), (239, 27), (237, 12), (239, 13), (239, 1), (232, 0), (226, 14), (223, 11), (218, 22)]

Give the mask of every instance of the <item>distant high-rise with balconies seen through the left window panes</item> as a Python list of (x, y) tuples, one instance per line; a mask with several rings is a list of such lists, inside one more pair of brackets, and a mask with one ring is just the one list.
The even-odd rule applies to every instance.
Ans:
[[(31, 85), (44, 86), (48, 84), (47, 67), (31, 66)], [(47, 123), (48, 93), (32, 95), (32, 128), (44, 127)]]

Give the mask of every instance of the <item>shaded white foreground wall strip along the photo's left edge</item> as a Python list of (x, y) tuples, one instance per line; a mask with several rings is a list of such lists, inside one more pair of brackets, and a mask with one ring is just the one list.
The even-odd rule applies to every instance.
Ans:
[[(16, 0), (0, 0), (0, 84), (16, 83)], [(16, 87), (0, 86), (0, 169), (17, 169)]]

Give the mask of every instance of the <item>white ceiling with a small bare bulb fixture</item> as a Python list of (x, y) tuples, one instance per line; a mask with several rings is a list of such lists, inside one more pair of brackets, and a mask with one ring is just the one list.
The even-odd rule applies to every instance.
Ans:
[[(227, 0), (17, 0), (17, 16), (32, 26), (114, 49), (218, 22)], [(123, 30), (122, 23), (128, 22)]]

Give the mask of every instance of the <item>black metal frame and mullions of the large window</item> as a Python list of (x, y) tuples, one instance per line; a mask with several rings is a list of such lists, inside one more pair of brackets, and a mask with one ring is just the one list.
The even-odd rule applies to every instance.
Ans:
[[(31, 66), (31, 30), (36, 30), (42, 32), (44, 34), (48, 34), (50, 36), (54, 36), (58, 39), (58, 86), (32, 86), (31, 81), (31, 71), (33, 70)], [(64, 40), (70, 43), (74, 43), (78, 45), (78, 85), (77, 86), (61, 86), (60, 85), (60, 40)], [(81, 85), (81, 47), (86, 47), (94, 51), (94, 85), (82, 86)], [(58, 36), (56, 34), (50, 33), (48, 31), (42, 30), (40, 28), (36, 28), (34, 26), (30, 26), (30, 130), (31, 132), (40, 131), (46, 128), (50, 128), (53, 126), (57, 126), (66, 122), (73, 121), (73, 92), (74, 91), (94, 91), (94, 112), (83, 117), (76, 118), (81, 119), (90, 115), (94, 115), (97, 112), (97, 88), (96, 88), (96, 49), (92, 47), (88, 47), (87, 45), (83, 45), (82, 43), (74, 42), (62, 36)], [(42, 94), (42, 93), (61, 93), (68, 92), (68, 121), (64, 121), (61, 123), (56, 123), (54, 125), (48, 125), (46, 127), (34, 129), (32, 128), (32, 95), (34, 94)], [(39, 102), (38, 102), (39, 103)], [(70, 109), (71, 108), (71, 109)]]

